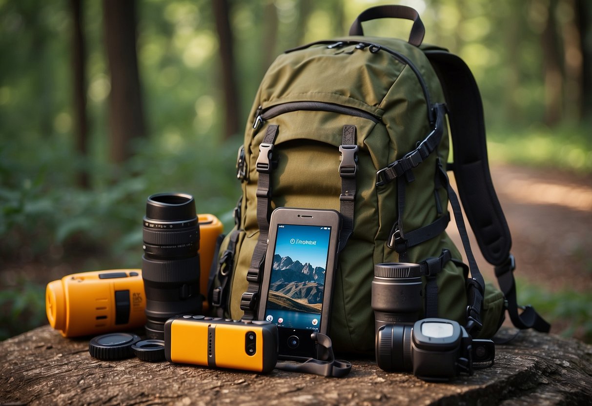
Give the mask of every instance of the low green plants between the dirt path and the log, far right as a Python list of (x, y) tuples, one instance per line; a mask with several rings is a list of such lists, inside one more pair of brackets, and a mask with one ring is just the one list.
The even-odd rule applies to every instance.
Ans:
[(518, 302), (530, 304), (545, 320), (555, 323), (565, 337), (576, 336), (592, 343), (592, 292), (562, 289), (551, 292), (531, 282), (517, 280)]

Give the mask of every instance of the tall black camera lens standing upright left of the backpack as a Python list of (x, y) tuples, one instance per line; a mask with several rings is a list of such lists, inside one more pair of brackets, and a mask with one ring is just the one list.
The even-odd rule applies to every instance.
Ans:
[(168, 318), (201, 312), (200, 227), (193, 196), (149, 196), (143, 223), (146, 334), (162, 340)]

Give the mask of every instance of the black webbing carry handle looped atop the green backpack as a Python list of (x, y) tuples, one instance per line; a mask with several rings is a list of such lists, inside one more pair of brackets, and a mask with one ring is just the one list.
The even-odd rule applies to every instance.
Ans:
[(426, 34), (426, 28), (423, 26), (422, 20), (419, 18), (419, 13), (407, 6), (400, 5), (385, 5), (377, 6), (362, 11), (358, 18), (353, 22), (352, 27), (349, 28), (350, 36), (363, 36), (362, 22), (369, 20), (377, 20), (378, 18), (404, 18), (405, 20), (413, 21), (411, 33), (409, 34), (409, 43), (416, 47), (422, 44), (423, 37)]

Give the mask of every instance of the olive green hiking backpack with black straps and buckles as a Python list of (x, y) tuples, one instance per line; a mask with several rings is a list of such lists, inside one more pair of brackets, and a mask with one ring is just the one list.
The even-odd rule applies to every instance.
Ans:
[[(363, 36), (361, 22), (384, 17), (413, 20), (409, 40)], [(348, 37), (287, 50), (269, 67), (237, 157), (236, 224), (211, 272), (214, 315), (258, 317), (274, 208), (322, 208), (343, 219), (329, 330), (337, 350), (374, 349), (371, 282), (384, 262), (419, 263), (424, 315), (456, 320), (473, 337), (493, 336), (506, 308), (517, 327), (549, 331), (532, 307), (518, 312), (477, 84), (459, 57), (423, 36), (414, 9), (374, 7)], [(501, 291), (481, 276), (447, 170)], [(468, 265), (445, 231), (449, 201)]]

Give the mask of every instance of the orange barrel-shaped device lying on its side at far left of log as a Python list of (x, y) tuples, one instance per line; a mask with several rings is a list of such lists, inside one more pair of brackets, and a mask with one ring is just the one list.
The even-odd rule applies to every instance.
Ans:
[(73, 273), (46, 288), (49, 324), (64, 337), (126, 330), (146, 323), (140, 269)]

